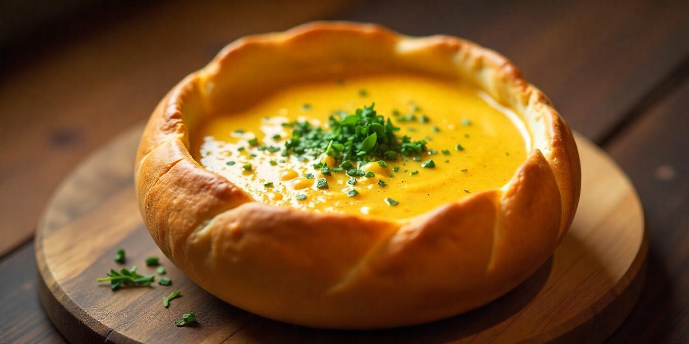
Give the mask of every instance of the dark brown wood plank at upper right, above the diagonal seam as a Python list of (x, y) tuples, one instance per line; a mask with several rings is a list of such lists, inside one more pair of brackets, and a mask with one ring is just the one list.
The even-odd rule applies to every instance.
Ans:
[(491, 47), (597, 143), (689, 54), (686, 1), (376, 1), (347, 19)]

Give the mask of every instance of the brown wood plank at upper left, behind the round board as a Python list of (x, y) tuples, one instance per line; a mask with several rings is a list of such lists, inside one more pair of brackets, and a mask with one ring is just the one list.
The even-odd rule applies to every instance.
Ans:
[[(351, 1), (170, 1), (32, 56), (1, 78), (0, 256), (34, 233), (55, 186), (88, 152), (145, 120), (186, 74), (240, 36), (286, 30)], [(266, 16), (266, 11), (280, 16)], [(107, 13), (100, 13), (107, 17)], [(39, 50), (40, 52), (40, 50)]]

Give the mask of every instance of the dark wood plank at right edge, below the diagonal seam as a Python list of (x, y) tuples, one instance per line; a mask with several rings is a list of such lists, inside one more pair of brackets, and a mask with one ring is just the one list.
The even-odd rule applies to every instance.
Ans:
[(689, 80), (606, 149), (628, 171), (650, 234), (646, 285), (610, 343), (689, 342)]

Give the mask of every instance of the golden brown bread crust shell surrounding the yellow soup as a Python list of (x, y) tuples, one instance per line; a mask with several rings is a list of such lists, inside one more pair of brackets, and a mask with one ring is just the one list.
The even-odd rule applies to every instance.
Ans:
[[(382, 69), (470, 80), (522, 116), (533, 151), (503, 188), (404, 221), (253, 202), (189, 155), (189, 128), (253, 101), (243, 96), (252, 90)], [(330, 328), (433, 321), (500, 297), (562, 240), (581, 180), (566, 123), (506, 58), (454, 37), (411, 38), (345, 22), (225, 47), (156, 107), (137, 162), (145, 224), (176, 266), (240, 308)]]

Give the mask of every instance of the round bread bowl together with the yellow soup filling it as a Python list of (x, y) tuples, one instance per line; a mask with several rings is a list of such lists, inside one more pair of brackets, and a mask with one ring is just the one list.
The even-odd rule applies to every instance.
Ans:
[[(344, 83), (336, 83), (338, 80)], [(276, 160), (270, 157), (278, 151), (265, 151), (263, 144), (260, 147), (264, 151), (255, 151), (259, 146), (251, 147), (255, 141), (249, 142), (251, 138), (241, 131), (223, 140), (203, 138), (204, 133), (216, 130), (208, 123), (227, 128), (220, 131), (229, 131), (235, 121), (251, 124), (247, 118), (258, 121), (269, 115), (259, 113), (256, 106), (277, 106), (295, 94), (290, 92), (313, 95), (325, 89), (314, 102), (323, 105), (340, 99), (350, 84), (358, 87), (359, 83), (378, 85), (381, 94), (388, 89), (396, 92), (395, 85), (400, 89), (412, 87), (413, 91), (426, 89), (430, 97), (426, 98), (433, 101), (420, 107), (432, 107), (428, 103), (436, 101), (471, 102), (463, 104), (466, 109), (480, 109), (477, 114), (469, 111), (466, 115), (473, 116), (477, 128), (471, 130), (477, 130), (477, 135), (482, 135), (480, 129), (502, 130), (497, 127), (504, 127), (505, 133), (526, 131), (524, 147), (515, 147), (516, 153), (509, 158), (513, 161), (516, 155), (520, 161), (495, 169), (503, 174), (507, 171), (508, 178), (496, 177), (490, 168), (482, 170), (475, 175), (477, 180), (493, 179), (477, 182), (477, 187), (469, 190), (438, 181), (458, 175), (457, 170), (462, 173), (455, 159), (480, 167), (473, 160), (483, 158), (486, 152), (467, 159), (461, 155), (464, 151), (450, 151), (447, 156), (453, 158), (442, 165), (444, 152), (438, 152), (446, 147), (433, 148), (433, 141), (426, 140), (427, 147), (418, 154), (400, 154), (397, 160), (376, 156), (373, 162), (378, 158), (384, 161), (378, 166), (363, 164), (365, 161), (354, 164), (358, 169), (388, 165), (386, 170), (376, 170), (376, 175), (397, 166), (397, 171), (389, 172), (396, 176), (386, 177), (387, 186), (365, 184), (365, 175), (352, 177), (345, 168), (307, 179), (311, 184), (306, 189), (295, 186), (294, 176), (270, 180), (272, 187), (282, 191), (282, 198), (277, 200), (264, 197), (276, 194), (267, 186), (261, 189), (251, 185), (267, 184), (262, 176), (273, 173), (270, 166), (274, 165), (267, 162)], [(453, 85), (461, 86), (452, 89)], [(345, 91), (333, 91), (337, 87)], [(304, 89), (312, 92), (304, 93)], [(443, 92), (450, 92), (449, 96)], [(352, 95), (358, 109), (371, 110), (373, 102), (378, 111), (391, 109), (376, 100), (374, 91), (358, 96), (365, 98)], [(380, 98), (390, 103), (394, 99)], [(484, 103), (480, 105), (477, 99)], [(407, 100), (399, 101), (416, 106)], [(294, 104), (289, 106), (294, 108)], [(414, 114), (417, 109), (405, 111)], [(324, 111), (331, 110), (314, 106), (311, 112), (324, 116)], [(285, 112), (294, 119), (296, 111)], [(437, 111), (443, 112), (442, 106)], [(500, 119), (491, 111), (513, 114), (516, 119), (509, 118), (513, 127), (492, 127), (486, 118)], [(308, 120), (311, 112), (299, 116)], [(448, 111), (435, 119), (429, 114), (431, 123), (439, 120), (444, 125), (439, 138), (445, 131), (448, 135), (463, 132), (458, 129), (462, 128), (462, 118), (455, 120), (452, 114)], [(418, 118), (421, 116), (419, 113)], [(217, 125), (218, 118), (227, 127)], [(428, 132), (429, 123), (418, 118), (415, 126)], [(340, 119), (344, 121), (345, 116)], [(321, 125), (324, 131), (329, 130), (328, 125)], [(318, 127), (318, 122), (313, 126)], [(276, 140), (285, 140), (285, 134), (294, 131), (289, 125), (283, 128)], [(234, 130), (239, 129), (234, 126)], [(409, 127), (402, 131), (411, 133)], [(483, 145), (507, 137), (493, 133), (473, 148), (480, 152)], [(462, 143), (468, 145), (466, 151), (472, 148), (471, 138), (469, 135)], [(261, 140), (270, 139), (266, 135)], [(228, 147), (243, 144), (245, 149), (220, 152), (218, 144), (225, 141)], [(355, 144), (358, 149), (362, 145)], [(289, 169), (298, 166), (302, 173), (318, 174), (324, 162), (334, 166), (328, 154), (314, 155), (313, 160), (304, 162), (305, 156), (288, 146), (281, 149), (291, 153), (282, 162), (291, 164)], [(375, 147), (374, 151), (382, 147), (380, 136)], [(507, 157), (511, 152), (499, 153)], [(263, 154), (268, 158), (262, 158)], [(428, 167), (428, 160), (415, 161), (417, 155), (423, 155), (422, 160), (433, 155), (433, 169), (412, 166)], [(491, 156), (492, 160), (486, 161), (498, 161), (495, 154)], [(202, 163), (205, 158), (207, 163)], [(256, 166), (234, 161), (249, 158), (257, 159)], [(239, 308), (312, 327), (413, 325), (492, 301), (524, 281), (553, 253), (572, 222), (579, 200), (579, 157), (573, 136), (548, 98), (528, 84), (510, 61), (463, 39), (413, 38), (369, 24), (309, 23), (287, 32), (248, 36), (228, 45), (209, 65), (187, 76), (161, 100), (145, 127), (136, 159), (136, 194), (144, 222), (163, 253), (187, 277)], [(338, 160), (334, 164), (341, 167), (342, 160)], [(409, 171), (404, 172), (403, 163), (410, 165)], [(246, 165), (249, 169), (242, 171)], [(274, 169), (284, 171), (279, 165)], [(398, 193), (404, 198), (393, 202), (389, 201), (393, 197), (384, 197), (385, 193), (399, 192), (393, 188), (395, 178), (411, 184), (411, 178), (422, 175), (412, 174), (418, 169), (431, 175), (429, 184), (404, 189)], [(346, 177), (338, 177), (342, 173)], [(359, 195), (344, 197), (341, 191), (355, 189), (346, 184), (351, 178), (358, 178), (364, 187), (358, 189)], [(501, 178), (504, 180), (495, 186)], [(329, 182), (327, 189), (316, 185), (321, 179)], [(470, 183), (471, 177), (466, 177), (466, 182)], [(442, 202), (435, 195), (423, 198), (424, 188), (443, 197), (456, 197)], [(374, 198), (378, 203), (372, 201)], [(364, 209), (362, 202), (368, 208)], [(371, 211), (371, 204), (376, 204), (376, 211)]]

